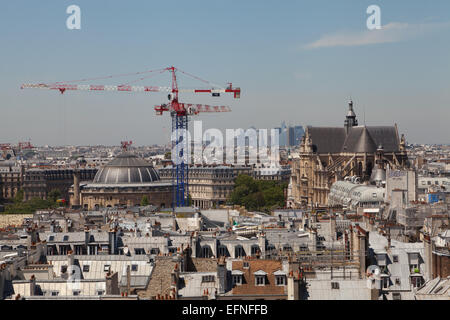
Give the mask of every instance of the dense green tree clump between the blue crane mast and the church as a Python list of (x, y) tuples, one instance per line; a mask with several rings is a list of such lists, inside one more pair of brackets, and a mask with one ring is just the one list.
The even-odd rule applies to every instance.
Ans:
[(247, 175), (239, 175), (235, 180), (230, 201), (244, 206), (247, 210), (270, 212), (284, 207), (286, 183), (279, 181), (255, 180)]

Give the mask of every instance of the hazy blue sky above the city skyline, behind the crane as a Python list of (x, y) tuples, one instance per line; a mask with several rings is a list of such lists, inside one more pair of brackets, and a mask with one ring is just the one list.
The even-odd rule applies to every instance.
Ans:
[[(69, 30), (66, 9), (81, 9)], [(370, 5), (381, 29), (369, 30)], [(351, 98), (360, 124), (394, 125), (409, 143), (450, 144), (450, 1), (3, 1), (0, 5), (0, 143), (164, 144), (165, 93), (21, 90), (175, 66), (242, 90), (195, 117), (203, 128), (342, 126)], [(139, 77), (99, 79), (123, 84)], [(169, 86), (161, 75), (136, 85)], [(204, 87), (180, 75), (180, 87)]]

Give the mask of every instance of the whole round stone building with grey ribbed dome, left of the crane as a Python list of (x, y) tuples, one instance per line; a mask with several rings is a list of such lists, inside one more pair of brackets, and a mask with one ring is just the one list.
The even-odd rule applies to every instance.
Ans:
[(139, 205), (144, 196), (151, 205), (172, 205), (171, 182), (161, 181), (150, 163), (129, 152), (98, 170), (92, 182), (80, 182), (75, 173), (69, 193), (72, 205), (89, 210)]

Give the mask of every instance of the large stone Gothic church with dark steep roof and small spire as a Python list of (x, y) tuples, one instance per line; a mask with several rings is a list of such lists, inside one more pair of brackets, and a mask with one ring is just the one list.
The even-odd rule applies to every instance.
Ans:
[(375, 180), (383, 180), (386, 166), (408, 166), (404, 135), (399, 138), (396, 124), (358, 125), (350, 101), (343, 127), (306, 128), (299, 157), (292, 161), (294, 206), (326, 206), (335, 181), (354, 177), (361, 183), (375, 184)]

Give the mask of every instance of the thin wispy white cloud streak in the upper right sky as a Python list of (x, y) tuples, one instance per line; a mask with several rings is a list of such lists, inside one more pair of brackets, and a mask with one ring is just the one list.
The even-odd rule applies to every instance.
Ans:
[(409, 24), (400, 22), (391, 22), (382, 26), (380, 30), (365, 30), (359, 32), (336, 32), (326, 34), (318, 40), (311, 42), (303, 49), (317, 49), (327, 47), (353, 47), (380, 43), (394, 43), (405, 41), (439, 30), (447, 28), (450, 23), (428, 23), (428, 24)]

